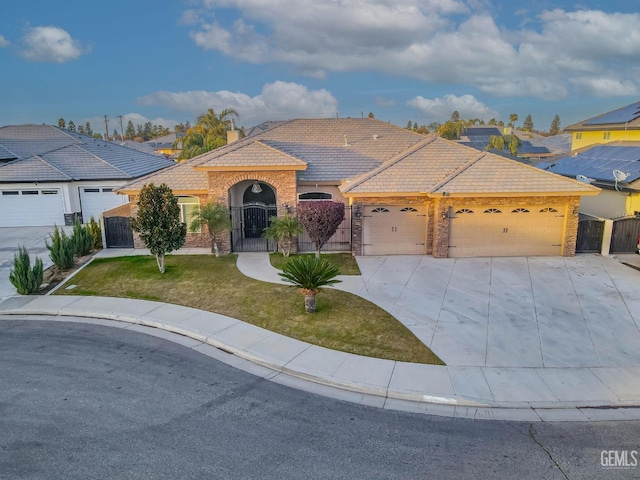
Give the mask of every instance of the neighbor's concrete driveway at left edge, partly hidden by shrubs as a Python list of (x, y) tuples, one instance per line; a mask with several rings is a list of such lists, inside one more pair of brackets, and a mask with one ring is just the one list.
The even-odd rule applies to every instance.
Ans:
[[(65, 231), (71, 233), (71, 227), (66, 227)], [(18, 245), (27, 248), (32, 262), (37, 255), (42, 259), (44, 268), (52, 265), (45, 246), (45, 241), (52, 232), (53, 226), (0, 228), (0, 299), (16, 294), (16, 289), (9, 282), (9, 270), (13, 268), (13, 256)]]

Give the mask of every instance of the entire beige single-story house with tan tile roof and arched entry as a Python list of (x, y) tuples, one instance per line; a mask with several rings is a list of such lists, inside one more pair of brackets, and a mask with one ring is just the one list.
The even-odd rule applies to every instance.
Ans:
[[(173, 189), (185, 221), (199, 204), (229, 205), (226, 251), (256, 249), (269, 217), (298, 202), (335, 200), (351, 207), (353, 254), (434, 257), (573, 255), (580, 198), (599, 192), (375, 119), (285, 122), (120, 192), (133, 202), (151, 182)], [(187, 245), (208, 244), (188, 234)]]

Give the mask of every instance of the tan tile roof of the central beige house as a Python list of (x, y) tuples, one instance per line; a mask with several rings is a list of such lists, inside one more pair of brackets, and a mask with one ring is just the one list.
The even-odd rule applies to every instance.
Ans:
[[(245, 170), (298, 167), (299, 181), (335, 181), (349, 194), (510, 193), (595, 194), (598, 189), (434, 135), (425, 137), (373, 119), (292, 120), (132, 182), (166, 183), (174, 191), (208, 191), (195, 168)], [(484, 171), (490, 172), (486, 174)], [(505, 182), (504, 178), (509, 178)]]

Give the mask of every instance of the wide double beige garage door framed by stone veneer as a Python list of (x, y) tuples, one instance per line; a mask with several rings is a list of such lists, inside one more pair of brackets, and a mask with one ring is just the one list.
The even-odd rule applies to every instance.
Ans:
[(449, 257), (562, 255), (564, 206), (453, 208)]

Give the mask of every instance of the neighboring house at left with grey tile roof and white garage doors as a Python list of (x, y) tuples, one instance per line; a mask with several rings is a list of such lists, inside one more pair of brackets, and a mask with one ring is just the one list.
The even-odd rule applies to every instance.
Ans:
[(127, 202), (115, 190), (174, 162), (51, 125), (0, 127), (0, 227), (69, 225)]

